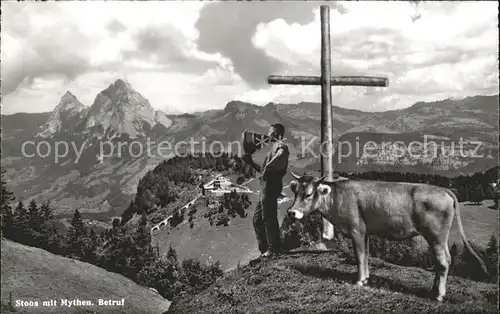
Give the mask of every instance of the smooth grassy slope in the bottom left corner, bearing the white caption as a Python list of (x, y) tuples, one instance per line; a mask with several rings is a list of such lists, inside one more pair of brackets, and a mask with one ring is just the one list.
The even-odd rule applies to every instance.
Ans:
[[(17, 307), (15, 313), (163, 313), (170, 302), (122, 275), (2, 239), (2, 313), (12, 300), (90, 300), (87, 307)], [(98, 299), (125, 299), (125, 306), (98, 306)]]

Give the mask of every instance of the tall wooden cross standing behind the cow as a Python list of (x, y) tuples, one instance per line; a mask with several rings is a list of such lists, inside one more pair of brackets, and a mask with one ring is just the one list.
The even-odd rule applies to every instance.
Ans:
[[(321, 76), (282, 76), (271, 75), (269, 84), (286, 85), (321, 85), (321, 147), (326, 144), (326, 152), (321, 151), (321, 173), (327, 180), (333, 180), (333, 115), (332, 85), (339, 86), (389, 86), (385, 77), (372, 76), (331, 76), (330, 46), (330, 7), (322, 5), (321, 9)], [(328, 228), (333, 236), (333, 226)]]

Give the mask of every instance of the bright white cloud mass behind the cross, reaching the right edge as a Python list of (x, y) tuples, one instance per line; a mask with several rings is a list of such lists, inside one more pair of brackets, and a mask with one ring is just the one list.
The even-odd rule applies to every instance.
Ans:
[[(423, 99), (498, 93), (496, 5), (456, 3), (446, 11), (449, 5), (429, 2), (420, 6), (422, 17), (413, 23), (408, 3), (343, 4), (347, 14), (331, 13), (332, 74), (382, 76), (390, 84), (387, 88), (334, 87), (334, 104), (381, 111)], [(319, 75), (320, 34), (317, 12), (304, 25), (284, 19), (262, 24), (253, 42), (285, 63), (284, 74)], [(319, 87), (305, 86), (262, 87), (239, 97), (265, 99), (261, 104), (321, 99)]]

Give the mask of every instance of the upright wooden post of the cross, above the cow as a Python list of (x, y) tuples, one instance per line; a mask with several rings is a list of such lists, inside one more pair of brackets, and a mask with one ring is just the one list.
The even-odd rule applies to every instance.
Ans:
[[(333, 180), (330, 7), (321, 6), (321, 175)], [(326, 144), (326, 150), (324, 145)]]

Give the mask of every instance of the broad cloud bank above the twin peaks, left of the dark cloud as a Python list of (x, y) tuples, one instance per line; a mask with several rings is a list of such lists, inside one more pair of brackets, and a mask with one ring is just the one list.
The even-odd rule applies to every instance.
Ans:
[[(2, 92), (9, 95), (35, 78), (71, 81), (94, 71), (202, 74), (217, 58), (193, 53), (190, 38), (196, 35), (194, 22), (201, 5), (6, 3), (2, 5)], [(138, 8), (142, 14), (137, 14)]]

